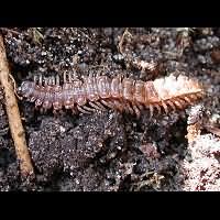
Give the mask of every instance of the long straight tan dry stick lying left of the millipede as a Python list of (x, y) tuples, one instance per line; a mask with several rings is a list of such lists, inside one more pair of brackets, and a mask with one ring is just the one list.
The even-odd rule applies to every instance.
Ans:
[(10, 70), (7, 61), (3, 37), (0, 34), (0, 82), (4, 90), (6, 109), (9, 119), (11, 135), (14, 141), (16, 156), (20, 161), (22, 176), (34, 174), (31, 157), (26, 146), (25, 133), (21, 122), (14, 88), (10, 82)]

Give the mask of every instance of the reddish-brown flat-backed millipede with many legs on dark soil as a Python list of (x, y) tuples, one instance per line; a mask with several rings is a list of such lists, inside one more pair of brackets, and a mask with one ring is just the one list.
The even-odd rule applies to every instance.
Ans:
[(197, 80), (185, 76), (170, 75), (142, 81), (122, 76), (110, 79), (89, 75), (80, 80), (72, 74), (64, 74), (63, 85), (58, 75), (47, 78), (35, 76), (33, 81), (23, 81), (18, 94), (43, 110), (53, 108), (56, 112), (65, 107), (73, 113), (91, 113), (108, 107), (139, 118), (143, 109), (148, 109), (151, 117), (154, 108), (158, 113), (162, 109), (166, 113), (170, 109), (184, 109), (200, 99), (204, 90)]

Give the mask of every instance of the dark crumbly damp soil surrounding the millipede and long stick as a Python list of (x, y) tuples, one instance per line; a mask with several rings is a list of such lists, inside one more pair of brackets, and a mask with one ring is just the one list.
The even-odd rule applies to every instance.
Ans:
[[(40, 112), (19, 100), (35, 179), (20, 175), (0, 92), (0, 190), (155, 191), (219, 190), (219, 136), (201, 125), (188, 142), (189, 118), (220, 122), (220, 29), (130, 28), (1, 29), (18, 86), (34, 75), (77, 70), (150, 80), (170, 74), (197, 78), (206, 88), (196, 107), (140, 119), (113, 110), (73, 116)], [(156, 64), (156, 72), (134, 65)], [(195, 110), (199, 109), (199, 110)], [(196, 113), (195, 113), (196, 112)], [(198, 118), (198, 117), (196, 117)], [(198, 120), (198, 119), (197, 119)]]

